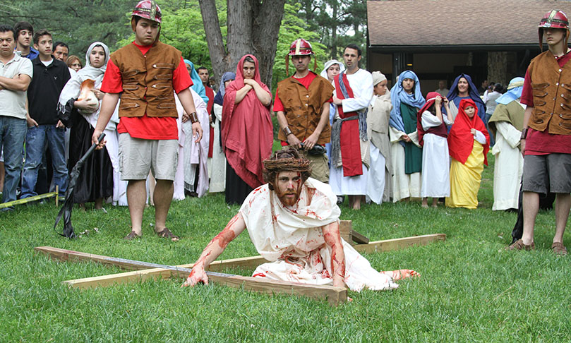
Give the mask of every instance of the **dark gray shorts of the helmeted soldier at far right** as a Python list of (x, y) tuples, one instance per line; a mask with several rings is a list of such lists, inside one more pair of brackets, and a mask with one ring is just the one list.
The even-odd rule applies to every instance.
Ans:
[(522, 189), (544, 195), (571, 193), (571, 155), (526, 155)]

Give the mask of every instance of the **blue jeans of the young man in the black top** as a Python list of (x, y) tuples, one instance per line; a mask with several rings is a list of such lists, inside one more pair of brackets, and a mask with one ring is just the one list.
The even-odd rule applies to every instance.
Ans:
[(22, 180), (22, 195), (28, 198), (37, 195), (35, 191), (37, 172), (42, 164), (47, 145), (52, 154), (54, 185), (59, 186), (59, 195), (66, 193), (68, 169), (66, 166), (66, 129), (56, 128), (55, 124), (32, 126), (26, 134), (26, 160)]

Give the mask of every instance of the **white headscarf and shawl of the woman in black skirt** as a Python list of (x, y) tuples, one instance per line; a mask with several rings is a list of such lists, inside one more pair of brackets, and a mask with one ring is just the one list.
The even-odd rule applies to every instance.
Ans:
[[(91, 66), (91, 61), (89, 56), (92, 50), (100, 46), (105, 52), (105, 63), (100, 68), (95, 68)], [(107, 62), (109, 62), (109, 47), (102, 42), (94, 42), (89, 46), (88, 52), (85, 53), (85, 68), (81, 68), (77, 73), (75, 73), (66, 83), (66, 86), (61, 90), (59, 95), (59, 104), (61, 106), (66, 106), (66, 103), (70, 99), (77, 99), (81, 91), (81, 83), (87, 79), (95, 81), (95, 88), (100, 88), (105, 69), (107, 69)]]

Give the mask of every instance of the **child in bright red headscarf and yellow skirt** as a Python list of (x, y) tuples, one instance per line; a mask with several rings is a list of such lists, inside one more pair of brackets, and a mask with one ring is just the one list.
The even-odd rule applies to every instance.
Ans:
[(478, 207), (478, 191), (483, 165), (488, 165), (490, 136), (478, 116), (478, 107), (471, 99), (463, 99), (458, 115), (448, 134), (450, 161), (450, 197), (448, 207)]

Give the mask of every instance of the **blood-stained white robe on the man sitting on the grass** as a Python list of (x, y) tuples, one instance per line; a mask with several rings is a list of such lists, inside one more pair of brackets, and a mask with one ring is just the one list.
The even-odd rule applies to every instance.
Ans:
[[(308, 203), (308, 189), (315, 191)], [(325, 245), (322, 227), (339, 220), (337, 198), (330, 186), (309, 178), (303, 184), (294, 206), (282, 204), (268, 184), (253, 190), (244, 200), (240, 213), (256, 250), (266, 260), (253, 277), (332, 284), (331, 251)], [(392, 278), (371, 267), (349, 243), (342, 241), (345, 254), (344, 282), (352, 291), (395, 289)]]

